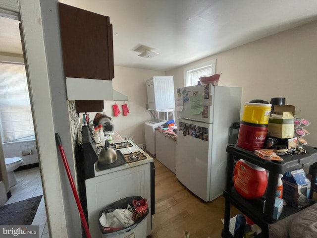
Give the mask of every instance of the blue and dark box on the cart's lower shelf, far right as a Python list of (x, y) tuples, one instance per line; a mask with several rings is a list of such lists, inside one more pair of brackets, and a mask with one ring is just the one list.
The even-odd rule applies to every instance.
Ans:
[(283, 199), (292, 205), (305, 205), (311, 193), (311, 181), (303, 169), (288, 172), (282, 178)]

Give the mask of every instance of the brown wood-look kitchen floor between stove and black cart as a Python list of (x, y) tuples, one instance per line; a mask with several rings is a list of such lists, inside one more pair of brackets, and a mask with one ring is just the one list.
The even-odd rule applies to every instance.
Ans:
[[(189, 191), (165, 166), (154, 159), (155, 214), (148, 238), (220, 238), (224, 217), (224, 198), (205, 202)], [(239, 214), (231, 207), (231, 217)]]

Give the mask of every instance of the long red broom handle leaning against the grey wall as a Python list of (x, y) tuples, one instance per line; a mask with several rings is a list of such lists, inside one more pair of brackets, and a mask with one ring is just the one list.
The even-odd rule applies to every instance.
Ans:
[(80, 200), (79, 200), (79, 197), (78, 197), (78, 194), (77, 194), (77, 190), (76, 190), (76, 187), (75, 187), (75, 183), (74, 183), (74, 180), (73, 180), (73, 178), (71, 176), (71, 172), (70, 172), (70, 169), (69, 169), (69, 166), (68, 166), (68, 162), (67, 162), (67, 159), (66, 159), (64, 148), (62, 146), (61, 139), (60, 139), (58, 133), (55, 133), (55, 140), (56, 140), (56, 144), (58, 145), (61, 158), (63, 159), (63, 162), (64, 162), (65, 170), (66, 170), (66, 173), (67, 173), (70, 185), (71, 185), (71, 189), (73, 190), (73, 194), (74, 194), (74, 197), (75, 197), (75, 200), (76, 200), (76, 204), (77, 204), (77, 207), (78, 207), (78, 210), (79, 210), (81, 222), (82, 222), (82, 224), (84, 226), (84, 229), (85, 229), (86, 236), (87, 236), (87, 238), (91, 238), (91, 235), (90, 235), (90, 232), (89, 232), (89, 228), (88, 228), (88, 225), (87, 225), (87, 221), (86, 221), (86, 218), (85, 218), (85, 215), (84, 215), (84, 211), (83, 211), (83, 208), (81, 206), (81, 203), (80, 203)]

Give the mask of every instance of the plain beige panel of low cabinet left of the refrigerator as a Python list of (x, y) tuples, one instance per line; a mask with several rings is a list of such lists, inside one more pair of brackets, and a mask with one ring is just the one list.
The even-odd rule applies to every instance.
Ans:
[(167, 169), (176, 174), (176, 141), (155, 130), (156, 158)]

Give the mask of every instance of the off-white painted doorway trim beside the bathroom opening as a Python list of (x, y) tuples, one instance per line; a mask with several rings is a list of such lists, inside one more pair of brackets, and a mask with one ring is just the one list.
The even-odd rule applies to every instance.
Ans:
[(0, 15), (20, 17), (50, 237), (68, 238), (40, 3), (41, 0), (0, 0)]

